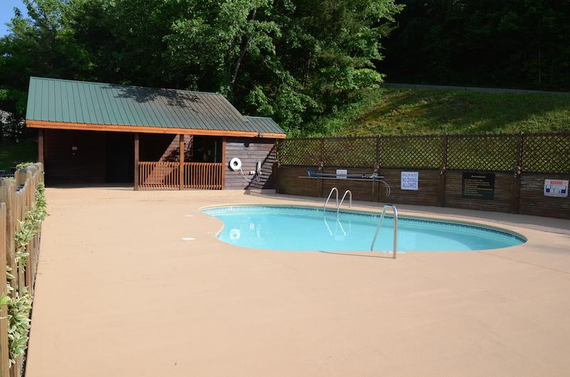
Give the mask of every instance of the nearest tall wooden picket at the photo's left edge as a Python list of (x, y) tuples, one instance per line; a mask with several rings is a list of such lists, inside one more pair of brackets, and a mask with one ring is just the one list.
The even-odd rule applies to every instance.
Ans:
[[(0, 292), (1, 296), (7, 294), (6, 290), (6, 204), (0, 203)], [(9, 376), (10, 363), (8, 361), (8, 307), (0, 307), (0, 375)]]

